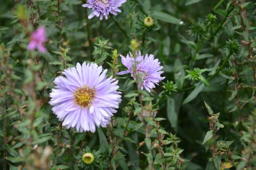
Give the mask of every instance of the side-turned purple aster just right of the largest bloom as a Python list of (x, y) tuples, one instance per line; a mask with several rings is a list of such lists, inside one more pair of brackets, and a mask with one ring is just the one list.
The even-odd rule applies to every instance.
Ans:
[(163, 66), (160, 66), (158, 59), (154, 60), (153, 54), (146, 54), (145, 57), (141, 53), (127, 54), (126, 57), (122, 56), (122, 63), (127, 67), (127, 71), (121, 71), (118, 75), (131, 73), (131, 76), (138, 83), (138, 87), (142, 90), (143, 87), (150, 92), (150, 89), (155, 88), (159, 81), (165, 77), (161, 77)]

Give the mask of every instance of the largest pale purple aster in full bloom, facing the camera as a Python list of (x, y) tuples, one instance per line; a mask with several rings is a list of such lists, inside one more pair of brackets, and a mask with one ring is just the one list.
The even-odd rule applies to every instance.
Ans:
[(78, 132), (95, 132), (95, 126), (106, 128), (121, 102), (118, 81), (107, 78), (107, 70), (97, 64), (77, 63), (55, 78), (50, 93), (52, 111), (63, 126)]

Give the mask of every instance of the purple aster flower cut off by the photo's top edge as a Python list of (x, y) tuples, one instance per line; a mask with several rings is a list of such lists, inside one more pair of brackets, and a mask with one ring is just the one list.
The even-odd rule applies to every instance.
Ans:
[(117, 12), (122, 12), (118, 7), (122, 6), (126, 0), (87, 0), (87, 4), (83, 4), (83, 7), (92, 8), (92, 13), (88, 16), (89, 19), (93, 16), (100, 17), (100, 20), (105, 16), (108, 19), (109, 13), (117, 15)]

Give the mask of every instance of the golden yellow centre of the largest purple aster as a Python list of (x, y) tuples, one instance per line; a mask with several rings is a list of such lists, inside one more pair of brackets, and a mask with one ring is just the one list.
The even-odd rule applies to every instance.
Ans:
[(75, 103), (80, 105), (81, 107), (90, 107), (95, 97), (95, 89), (90, 89), (88, 86), (84, 86), (83, 88), (78, 88), (74, 94)]

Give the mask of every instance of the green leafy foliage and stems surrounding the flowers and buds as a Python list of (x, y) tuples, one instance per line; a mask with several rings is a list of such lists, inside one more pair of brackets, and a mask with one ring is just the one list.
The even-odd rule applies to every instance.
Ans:
[[(127, 0), (103, 21), (87, 20), (83, 3), (0, 2), (1, 168), (255, 168), (254, 1)], [(28, 52), (42, 25), (48, 52)], [(165, 80), (150, 93), (116, 77), (119, 54), (139, 50), (164, 66)], [(84, 61), (108, 69), (123, 96), (95, 133), (65, 129), (48, 104), (54, 78)], [(94, 155), (90, 165), (85, 152)]]

